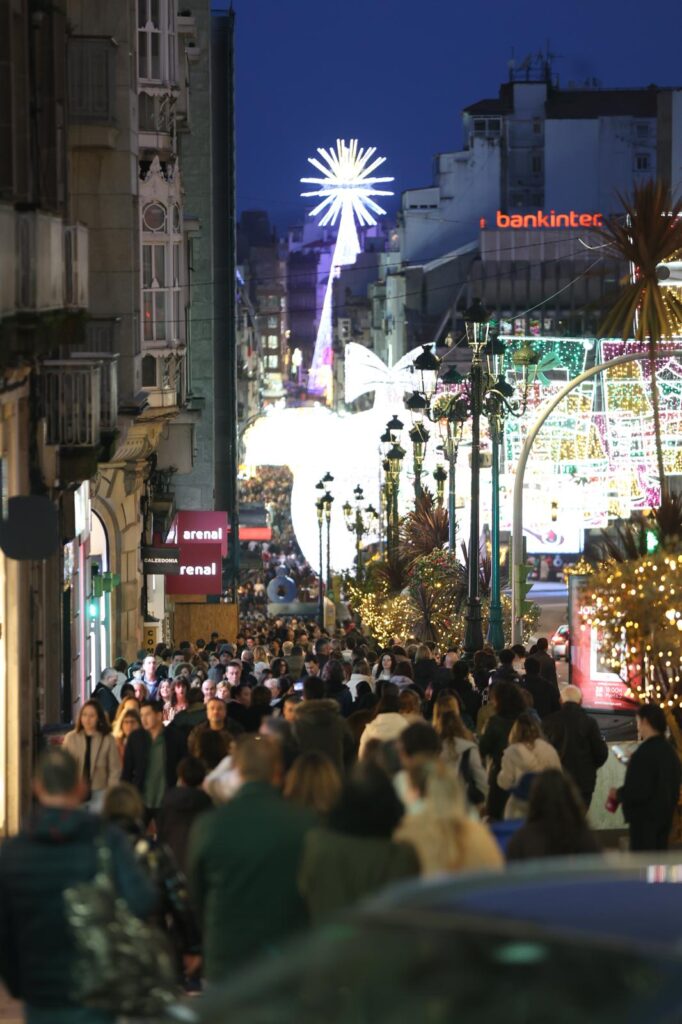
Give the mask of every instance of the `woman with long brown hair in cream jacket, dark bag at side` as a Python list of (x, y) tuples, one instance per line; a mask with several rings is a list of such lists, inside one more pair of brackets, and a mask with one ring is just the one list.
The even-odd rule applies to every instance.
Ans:
[(535, 715), (523, 712), (511, 727), (498, 773), (498, 785), (509, 793), (506, 819), (525, 817), (530, 784), (536, 775), (550, 768), (561, 769), (559, 755), (543, 737)]

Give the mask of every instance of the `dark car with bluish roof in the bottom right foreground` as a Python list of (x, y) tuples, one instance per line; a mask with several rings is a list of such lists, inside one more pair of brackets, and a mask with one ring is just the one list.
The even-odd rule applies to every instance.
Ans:
[(388, 891), (183, 1011), (201, 1024), (682, 1020), (682, 864), (615, 855)]

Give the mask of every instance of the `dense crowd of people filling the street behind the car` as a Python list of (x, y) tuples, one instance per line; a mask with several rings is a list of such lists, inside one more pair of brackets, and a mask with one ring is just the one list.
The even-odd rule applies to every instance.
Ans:
[[(587, 810), (608, 748), (581, 698), (544, 638), (470, 666), (280, 618), (117, 662), (43, 756), (34, 822), (0, 848), (0, 975), (31, 1021), (73, 1006), (58, 894), (101, 842), (188, 991), (392, 882), (596, 854)], [(637, 721), (609, 799), (633, 850), (665, 849), (680, 765), (663, 712)]]

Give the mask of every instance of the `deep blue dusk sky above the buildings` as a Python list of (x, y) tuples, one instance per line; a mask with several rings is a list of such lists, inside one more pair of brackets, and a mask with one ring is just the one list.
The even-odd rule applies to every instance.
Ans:
[[(395, 190), (429, 184), (461, 109), (497, 96), (512, 51), (560, 84), (682, 86), (679, 0), (233, 0), (238, 201), (280, 230), (304, 216), (307, 157), (356, 137)], [(394, 204), (395, 205), (395, 204)]]

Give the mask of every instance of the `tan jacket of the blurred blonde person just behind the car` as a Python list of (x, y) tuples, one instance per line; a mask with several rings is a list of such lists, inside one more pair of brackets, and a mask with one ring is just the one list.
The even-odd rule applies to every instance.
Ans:
[(481, 821), (444, 819), (428, 807), (428, 802), (423, 810), (406, 814), (393, 839), (414, 847), (423, 876), (479, 871), (503, 867), (505, 862), (493, 834)]

